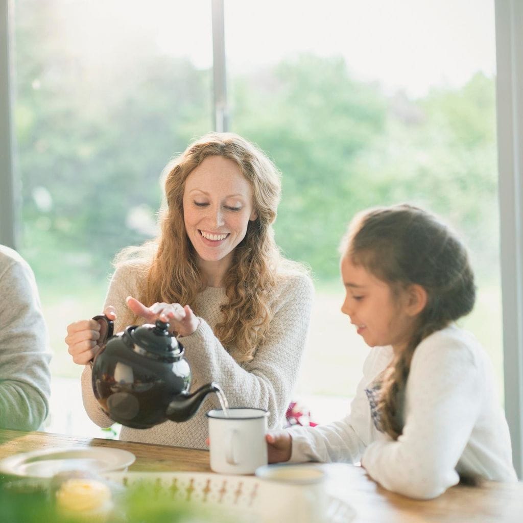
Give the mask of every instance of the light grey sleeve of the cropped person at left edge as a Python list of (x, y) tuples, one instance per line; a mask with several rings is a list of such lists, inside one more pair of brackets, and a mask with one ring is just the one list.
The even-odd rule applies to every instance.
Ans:
[(0, 427), (40, 428), (49, 411), (51, 352), (35, 276), (0, 253)]

